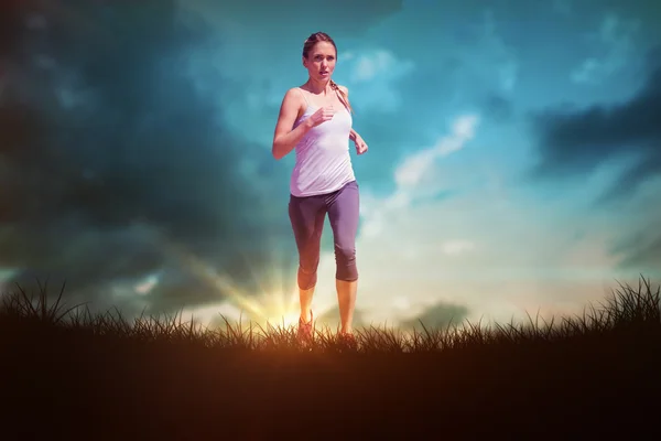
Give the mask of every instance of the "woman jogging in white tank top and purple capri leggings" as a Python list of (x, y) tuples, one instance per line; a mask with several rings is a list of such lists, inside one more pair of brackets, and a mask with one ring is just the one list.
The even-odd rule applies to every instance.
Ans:
[(367, 151), (367, 144), (351, 128), (348, 89), (330, 79), (336, 61), (337, 47), (327, 34), (317, 32), (305, 41), (303, 66), (310, 77), (284, 95), (273, 136), (273, 157), (280, 160), (294, 149), (296, 152), (289, 215), (299, 248), (299, 338), (308, 342), (312, 336), (311, 303), (322, 228), (328, 214), (335, 243), (339, 336), (355, 344), (351, 322), (358, 283), (355, 243), (359, 195), (347, 140), (354, 141), (358, 154)]

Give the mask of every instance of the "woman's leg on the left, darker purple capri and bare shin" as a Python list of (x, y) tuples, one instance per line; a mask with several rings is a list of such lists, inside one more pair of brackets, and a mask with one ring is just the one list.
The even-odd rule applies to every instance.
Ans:
[(289, 215), (299, 249), (299, 299), (301, 322), (311, 320), (311, 304), (317, 282), (319, 248), (326, 206), (323, 196), (290, 197)]

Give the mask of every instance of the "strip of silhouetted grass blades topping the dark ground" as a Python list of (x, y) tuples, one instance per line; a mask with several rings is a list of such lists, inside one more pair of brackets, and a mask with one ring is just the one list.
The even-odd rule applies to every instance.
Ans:
[[(176, 343), (208, 348), (280, 351), (337, 349), (337, 335), (328, 327), (315, 327), (313, 344), (301, 346), (296, 341), (296, 329), (292, 326), (260, 326), (241, 321), (231, 324), (224, 318), (225, 327), (209, 329), (183, 321), (175, 315), (149, 315), (126, 320), (117, 309), (104, 314), (93, 314), (86, 305), (67, 306), (62, 302), (64, 286), (57, 298), (48, 304), (47, 286), (39, 284), (39, 292), (28, 294), (18, 287), (6, 293), (0, 305), (0, 323), (3, 325), (37, 325), (48, 330), (63, 329), (91, 335), (108, 335), (140, 343)], [(637, 289), (619, 283), (619, 289), (598, 302), (590, 304), (582, 315), (561, 318), (540, 323), (539, 315), (523, 323), (495, 324), (494, 327), (466, 322), (446, 329), (427, 329), (411, 332), (397, 329), (370, 326), (357, 330), (358, 352), (411, 353), (438, 352), (456, 348), (475, 348), (495, 345), (546, 344), (567, 340), (618, 335), (659, 337), (661, 332), (660, 288), (654, 290), (649, 280), (641, 278)], [(347, 348), (342, 347), (344, 351)]]

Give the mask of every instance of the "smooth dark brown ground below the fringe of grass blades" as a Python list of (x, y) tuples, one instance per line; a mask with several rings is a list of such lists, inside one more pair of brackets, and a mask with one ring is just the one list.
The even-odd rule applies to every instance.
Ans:
[(0, 438), (654, 439), (659, 349), (661, 338), (620, 335), (446, 354), (229, 353), (0, 322)]

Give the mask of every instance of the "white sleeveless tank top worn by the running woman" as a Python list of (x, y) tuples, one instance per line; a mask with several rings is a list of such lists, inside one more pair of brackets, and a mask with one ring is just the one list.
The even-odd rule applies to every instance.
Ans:
[[(294, 128), (318, 109), (318, 106), (307, 101), (303, 90), (300, 92), (307, 108), (294, 122)], [(332, 193), (356, 180), (349, 154), (351, 123), (351, 114), (342, 106), (333, 119), (313, 127), (299, 141), (295, 147), (296, 163), (290, 181), (292, 195), (302, 197)]]

